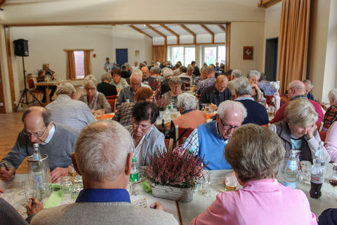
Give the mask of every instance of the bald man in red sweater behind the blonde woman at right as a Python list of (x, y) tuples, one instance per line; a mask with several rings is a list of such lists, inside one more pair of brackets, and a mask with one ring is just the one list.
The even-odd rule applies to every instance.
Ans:
[[(273, 124), (275, 122), (279, 122), (283, 120), (285, 117), (286, 106), (289, 105), (289, 101), (299, 99), (299, 98), (307, 99), (305, 85), (300, 80), (294, 80), (290, 82), (290, 84), (288, 85), (288, 101), (284, 103), (284, 105), (282, 105), (281, 108), (279, 108), (279, 110), (277, 110), (277, 112), (275, 113), (274, 119), (272, 119), (270, 123)], [(317, 123), (322, 122), (323, 112), (322, 112), (321, 106), (319, 105), (319, 103), (315, 101), (312, 101), (310, 99), (308, 100), (312, 103), (312, 105), (314, 105), (315, 110), (318, 113)]]

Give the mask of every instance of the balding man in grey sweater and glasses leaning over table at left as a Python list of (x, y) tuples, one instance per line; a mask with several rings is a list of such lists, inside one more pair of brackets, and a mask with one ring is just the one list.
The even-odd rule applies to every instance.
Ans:
[(57, 182), (62, 176), (67, 176), (79, 131), (53, 123), (51, 112), (38, 106), (28, 108), (22, 115), (22, 122), (24, 129), (11, 152), (0, 162), (0, 179), (9, 181), (13, 178), (22, 160), (33, 155), (34, 143), (39, 143), (40, 152), (49, 156), (51, 180)]

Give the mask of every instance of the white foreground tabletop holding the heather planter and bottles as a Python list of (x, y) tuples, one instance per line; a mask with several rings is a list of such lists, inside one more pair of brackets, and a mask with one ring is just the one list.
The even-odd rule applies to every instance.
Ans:
[[(331, 193), (333, 191), (333, 187), (329, 184), (329, 174), (332, 170), (332, 167), (333, 165), (330, 163), (326, 165), (326, 178), (321, 190), (322, 196), (318, 199), (310, 198), (309, 184), (298, 182), (297, 188), (302, 190), (305, 193), (305, 195), (307, 195), (311, 210), (313, 213), (315, 213), (317, 218), (319, 217), (319, 214), (323, 212), (323, 210), (331, 207), (337, 207), (336, 198), (331, 198), (328, 196), (328, 193)], [(180, 224), (190, 224), (190, 222), (194, 217), (197, 217), (197, 215), (204, 212), (207, 209), (207, 207), (209, 207), (209, 205), (211, 205), (213, 201), (216, 200), (216, 195), (218, 195), (218, 193), (226, 191), (225, 186), (222, 183), (219, 184), (217, 182), (218, 180), (223, 180), (225, 175), (231, 172), (232, 169), (212, 170), (211, 185), (209, 186), (209, 196), (206, 197), (204, 195), (199, 195), (199, 193), (197, 192), (194, 192), (193, 199), (190, 203), (180, 203), (169, 200), (163, 200), (161, 198), (155, 198), (151, 195), (151, 193), (146, 193), (145, 191), (143, 191), (143, 189), (140, 188), (140, 186), (138, 187), (139, 189), (138, 195), (136, 196), (131, 195), (131, 202), (139, 203), (143, 207), (150, 207), (151, 203), (159, 201), (161, 203), (164, 203), (163, 205), (164, 207), (167, 207), (166, 209), (167, 212), (172, 213), (173, 216), (175, 216), (176, 219), (180, 222)], [(0, 188), (6, 190), (6, 188), (11, 187), (13, 182), (18, 183), (20, 181), (25, 180), (27, 180), (27, 174), (16, 174), (15, 178), (12, 181), (8, 182), (0, 181)], [(24, 199), (24, 197), (25, 196), (20, 197), (20, 195), (17, 195), (15, 197), (16, 201), (13, 201), (11, 203), (15, 208), (17, 208), (17, 210), (19, 210), (19, 212), (24, 210), (24, 207), (22, 208), (22, 199)]]

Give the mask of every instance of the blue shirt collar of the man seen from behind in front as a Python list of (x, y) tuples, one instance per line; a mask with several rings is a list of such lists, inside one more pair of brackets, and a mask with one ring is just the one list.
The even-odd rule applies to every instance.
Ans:
[(131, 203), (130, 195), (125, 189), (83, 189), (76, 203)]

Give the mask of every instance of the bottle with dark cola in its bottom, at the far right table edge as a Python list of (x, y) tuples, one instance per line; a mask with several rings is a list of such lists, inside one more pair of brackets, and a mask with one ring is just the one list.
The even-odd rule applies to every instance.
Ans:
[[(310, 197), (319, 198), (322, 195), (321, 188), (324, 182), (324, 155), (322, 151), (323, 143), (319, 142), (319, 147), (315, 153), (314, 167), (312, 167), (311, 176), (310, 176)], [(323, 167), (322, 167), (323, 166)]]

